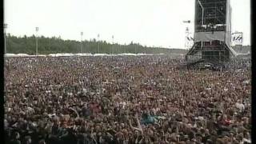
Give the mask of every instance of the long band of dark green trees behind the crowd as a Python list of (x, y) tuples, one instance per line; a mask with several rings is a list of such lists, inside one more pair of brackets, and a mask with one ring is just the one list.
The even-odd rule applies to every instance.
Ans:
[[(10, 54), (35, 54), (35, 36), (16, 37), (7, 36), (7, 53)], [(81, 50), (81, 47), (83, 49)], [(159, 47), (146, 47), (139, 43), (131, 42), (129, 45), (110, 44), (106, 41), (96, 42), (95, 39), (81, 42), (74, 40), (63, 40), (62, 38), (38, 38), (38, 54), (56, 53), (91, 53), (91, 54), (122, 54), (122, 53), (145, 53), (145, 54), (186, 54), (182, 49), (165, 49)]]

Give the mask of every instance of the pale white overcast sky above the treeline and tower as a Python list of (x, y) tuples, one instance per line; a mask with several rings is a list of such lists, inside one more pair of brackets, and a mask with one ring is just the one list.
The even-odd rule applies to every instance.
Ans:
[[(232, 30), (250, 45), (250, 0), (230, 0)], [(64, 39), (97, 38), (139, 42), (146, 46), (184, 48), (183, 20), (194, 21), (194, 0), (5, 0), (7, 32)], [(193, 24), (190, 30), (194, 32)]]

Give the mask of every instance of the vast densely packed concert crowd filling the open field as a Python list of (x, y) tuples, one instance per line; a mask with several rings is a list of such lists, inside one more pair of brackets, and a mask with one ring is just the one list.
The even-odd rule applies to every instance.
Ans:
[(180, 70), (170, 56), (6, 58), (5, 142), (251, 143), (250, 59)]

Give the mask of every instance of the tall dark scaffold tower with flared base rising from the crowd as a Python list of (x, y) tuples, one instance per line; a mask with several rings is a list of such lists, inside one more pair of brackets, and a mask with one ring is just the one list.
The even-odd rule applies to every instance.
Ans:
[(186, 54), (186, 62), (223, 65), (236, 56), (230, 42), (230, 0), (195, 0), (194, 45)]

